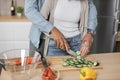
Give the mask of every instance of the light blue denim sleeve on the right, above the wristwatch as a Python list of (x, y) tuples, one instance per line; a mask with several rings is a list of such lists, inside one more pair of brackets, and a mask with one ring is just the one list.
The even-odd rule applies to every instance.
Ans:
[(93, 3), (93, 0), (88, 0), (88, 4), (89, 4), (88, 28), (95, 31), (97, 27), (97, 10)]

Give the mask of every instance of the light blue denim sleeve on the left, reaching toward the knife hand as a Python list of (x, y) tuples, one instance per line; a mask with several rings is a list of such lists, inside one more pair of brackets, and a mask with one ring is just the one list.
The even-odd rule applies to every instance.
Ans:
[(37, 0), (25, 0), (25, 16), (35, 25), (40, 31), (49, 33), (54, 27), (49, 23), (39, 12), (38, 6), (42, 6), (42, 0), (38, 5)]

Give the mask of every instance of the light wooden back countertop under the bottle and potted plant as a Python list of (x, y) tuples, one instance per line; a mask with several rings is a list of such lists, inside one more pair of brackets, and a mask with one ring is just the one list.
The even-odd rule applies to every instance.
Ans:
[(28, 22), (25, 16), (0, 16), (0, 22)]

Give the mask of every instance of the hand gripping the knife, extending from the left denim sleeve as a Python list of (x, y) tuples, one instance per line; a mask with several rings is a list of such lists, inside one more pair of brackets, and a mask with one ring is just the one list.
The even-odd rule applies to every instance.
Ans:
[(67, 51), (70, 47), (69, 44), (67, 42), (67, 40), (65, 39), (64, 35), (57, 29), (57, 28), (53, 28), (51, 31), (51, 35), (54, 39), (54, 43), (55, 45), (64, 50)]

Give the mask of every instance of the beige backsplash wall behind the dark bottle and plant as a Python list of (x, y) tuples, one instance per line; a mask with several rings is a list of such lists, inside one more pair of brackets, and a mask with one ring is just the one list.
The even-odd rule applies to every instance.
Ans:
[[(0, 0), (0, 15), (11, 15), (10, 6), (12, 0)], [(24, 7), (25, 0), (14, 0), (15, 6)]]

